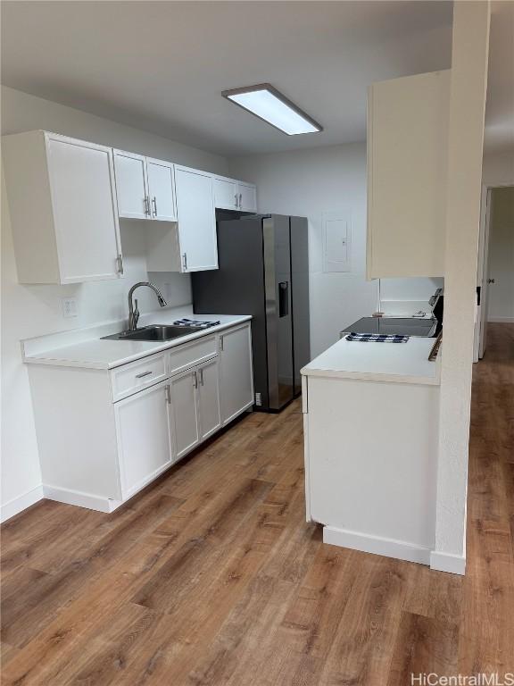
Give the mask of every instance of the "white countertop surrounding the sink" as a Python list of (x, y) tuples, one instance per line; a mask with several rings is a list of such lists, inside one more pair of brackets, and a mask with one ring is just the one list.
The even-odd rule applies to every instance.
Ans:
[(120, 364), (133, 362), (141, 357), (158, 353), (170, 347), (180, 346), (200, 339), (216, 331), (227, 329), (252, 317), (248, 314), (193, 314), (190, 307), (166, 308), (150, 314), (142, 314), (139, 327), (149, 324), (170, 324), (183, 318), (201, 321), (219, 321), (209, 329), (195, 331), (187, 336), (167, 341), (102, 340), (127, 328), (127, 322), (108, 322), (87, 329), (63, 331), (37, 339), (21, 341), (23, 359), (28, 364), (52, 364), (87, 369), (112, 369)]

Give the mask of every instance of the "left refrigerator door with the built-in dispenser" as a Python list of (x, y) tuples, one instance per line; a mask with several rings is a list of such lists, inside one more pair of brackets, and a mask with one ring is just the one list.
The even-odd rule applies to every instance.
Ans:
[(289, 217), (264, 218), (262, 233), (269, 408), (278, 410), (294, 397)]

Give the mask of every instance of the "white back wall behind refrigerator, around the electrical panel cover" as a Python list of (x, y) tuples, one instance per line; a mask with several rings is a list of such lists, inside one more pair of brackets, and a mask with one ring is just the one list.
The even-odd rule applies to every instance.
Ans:
[[(257, 184), (260, 212), (309, 220), (311, 356), (339, 331), (377, 309), (377, 281), (366, 281), (366, 144), (319, 147), (228, 161), (230, 175)], [(322, 215), (350, 212), (352, 272), (323, 272)]]

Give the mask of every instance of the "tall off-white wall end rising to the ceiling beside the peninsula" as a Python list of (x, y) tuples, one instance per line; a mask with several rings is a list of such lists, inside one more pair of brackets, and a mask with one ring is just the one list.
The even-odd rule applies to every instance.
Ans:
[(453, 6), (446, 184), (444, 343), (432, 568), (464, 573), (468, 442), (490, 5)]

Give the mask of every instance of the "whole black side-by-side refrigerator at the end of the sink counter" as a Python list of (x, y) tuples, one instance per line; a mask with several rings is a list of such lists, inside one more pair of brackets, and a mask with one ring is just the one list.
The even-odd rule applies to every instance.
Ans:
[(218, 270), (191, 274), (195, 314), (252, 314), (254, 407), (278, 412), (311, 361), (307, 219), (219, 221), (218, 259)]

